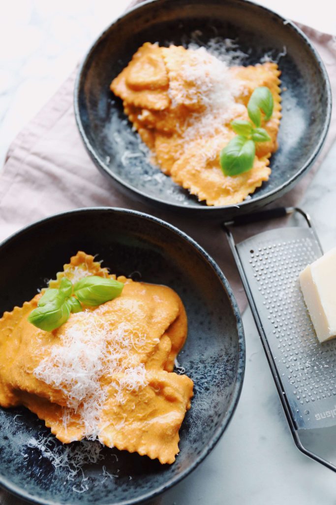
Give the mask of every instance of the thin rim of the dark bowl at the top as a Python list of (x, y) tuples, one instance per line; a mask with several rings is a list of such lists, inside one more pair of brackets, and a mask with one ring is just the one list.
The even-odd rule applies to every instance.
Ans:
[[(79, 66), (76, 80), (75, 80), (75, 86), (74, 86), (74, 111), (75, 111), (76, 124), (77, 124), (78, 130), (80, 132), (80, 136), (82, 138), (82, 141), (83, 141), (91, 159), (96, 164), (96, 166), (101, 171), (106, 173), (109, 177), (114, 179), (121, 186), (123, 186), (124, 188), (127, 188), (130, 192), (135, 193), (134, 197), (138, 197), (140, 199), (145, 198), (147, 201), (150, 201), (155, 206), (159, 206), (159, 207), (165, 206), (166, 208), (170, 208), (171, 210), (180, 211), (180, 212), (181, 211), (183, 212), (183, 210), (186, 212), (205, 211), (205, 212), (208, 212), (208, 215), (209, 215), (209, 213), (214, 213), (214, 212), (216, 212), (218, 214), (218, 212), (220, 212), (220, 211), (227, 212), (227, 213), (234, 212), (234, 209), (237, 208), (237, 205), (222, 205), (222, 206), (199, 206), (196, 204), (182, 205), (182, 204), (178, 204), (175, 202), (167, 202), (164, 199), (159, 198), (155, 195), (150, 195), (150, 194), (144, 193), (142, 190), (136, 188), (135, 186), (131, 185), (127, 181), (122, 180), (122, 178), (119, 175), (117, 175), (114, 172), (111, 172), (109, 170), (109, 167), (97, 155), (94, 147), (91, 145), (91, 142), (89, 141), (89, 139), (85, 133), (85, 129), (82, 124), (81, 111), (80, 111), (80, 107), (79, 107), (79, 95), (80, 95), (80, 87), (82, 84), (83, 73), (84, 73), (85, 67), (91, 57), (91, 54), (94, 52), (95, 48), (101, 42), (101, 40), (104, 39), (105, 35), (112, 29), (112, 27), (115, 26), (120, 21), (122, 21), (126, 16), (128, 16), (138, 10), (147, 8), (147, 6), (150, 4), (160, 4), (160, 2), (162, 2), (162, 1), (164, 1), (164, 0), (145, 0), (144, 2), (141, 2), (140, 4), (137, 4), (137, 5), (133, 6), (132, 8), (128, 9), (121, 16), (117, 17), (112, 23), (110, 23), (100, 33), (100, 35), (96, 38), (96, 40), (90, 46), (88, 52), (86, 53), (86, 56), (84, 57), (83, 61), (81, 62), (80, 66)], [(326, 114), (324, 115), (323, 128), (320, 133), (319, 140), (316, 143), (314, 150), (313, 150), (312, 154), (310, 155), (310, 157), (308, 158), (308, 160), (306, 160), (306, 162), (301, 166), (301, 168), (294, 175), (292, 175), (288, 180), (283, 182), (277, 188), (267, 191), (265, 194), (260, 195), (260, 196), (256, 196), (250, 200), (242, 201), (239, 204), (238, 208), (241, 209), (241, 212), (248, 212), (248, 209), (251, 205), (254, 206), (256, 204), (256, 205), (262, 206), (262, 203), (264, 203), (264, 205), (266, 205), (266, 204), (274, 201), (278, 197), (278, 194), (280, 196), (280, 195), (286, 193), (292, 187), (292, 185), (295, 183), (295, 181), (298, 181), (304, 175), (304, 173), (312, 166), (313, 162), (316, 160), (318, 154), (320, 153), (320, 150), (321, 150), (321, 148), (324, 144), (325, 138), (326, 138), (326, 134), (328, 132), (330, 119), (331, 119), (332, 97), (331, 97), (330, 81), (329, 81), (329, 77), (328, 77), (327, 71), (325, 69), (324, 63), (323, 63), (321, 57), (319, 56), (318, 52), (316, 51), (315, 47), (310, 42), (309, 38), (305, 35), (305, 33), (303, 33), (303, 31), (298, 26), (296, 26), (291, 20), (288, 20), (288, 19), (284, 18), (283, 16), (281, 16), (280, 14), (274, 12), (272, 9), (268, 9), (267, 7), (261, 6), (255, 2), (252, 2), (251, 0), (234, 0), (234, 1), (237, 3), (242, 3), (244, 5), (248, 4), (250, 6), (253, 6), (254, 8), (260, 9), (260, 11), (263, 11), (263, 12), (267, 13), (268, 15), (274, 16), (275, 18), (278, 19), (278, 21), (281, 21), (284, 25), (286, 25), (286, 27), (288, 27), (289, 29), (294, 31), (297, 35), (299, 35), (299, 37), (301, 37), (303, 45), (306, 45), (308, 47), (312, 56), (315, 58), (315, 60), (318, 64), (318, 67), (320, 69), (320, 72), (322, 74), (322, 77), (323, 77), (323, 80), (325, 83), (325, 91), (326, 91), (326, 98), (327, 98), (326, 111), (325, 111)], [(178, 3), (179, 0), (171, 0), (171, 2)], [(193, 0), (189, 0), (189, 2), (192, 3)], [(223, 4), (223, 7), (224, 6), (225, 6), (225, 1)]]

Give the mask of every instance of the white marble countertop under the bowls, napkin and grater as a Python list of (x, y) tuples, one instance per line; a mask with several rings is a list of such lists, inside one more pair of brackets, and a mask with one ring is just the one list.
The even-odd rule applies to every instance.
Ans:
[[(336, 33), (330, 0), (259, 2), (285, 17)], [(74, 69), (97, 34), (128, 4), (91, 0), (9, 3), (0, 32), (0, 158), (13, 137)], [(5, 19), (4, 19), (5, 17)], [(336, 246), (336, 145), (329, 151), (300, 206), (312, 217), (325, 250)], [(323, 198), (322, 198), (323, 195)], [(232, 422), (211, 455), (160, 497), (161, 505), (334, 505), (336, 476), (296, 448), (251, 313), (243, 315), (246, 373)], [(335, 451), (336, 452), (336, 451)], [(336, 454), (335, 454), (336, 461)], [(19, 503), (6, 498), (5, 503)]]

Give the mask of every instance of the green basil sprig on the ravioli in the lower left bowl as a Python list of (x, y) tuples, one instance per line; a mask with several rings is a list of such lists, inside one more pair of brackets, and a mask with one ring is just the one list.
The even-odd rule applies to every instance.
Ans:
[(97, 306), (121, 294), (123, 283), (96, 275), (85, 277), (73, 286), (63, 277), (59, 288), (49, 288), (38, 301), (28, 321), (37, 328), (52, 331), (68, 321), (70, 314), (83, 311), (84, 306)]

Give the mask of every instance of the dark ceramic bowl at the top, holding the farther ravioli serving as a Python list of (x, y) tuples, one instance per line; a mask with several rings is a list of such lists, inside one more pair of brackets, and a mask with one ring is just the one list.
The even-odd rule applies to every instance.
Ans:
[[(207, 207), (148, 163), (125, 120), (111, 80), (146, 41), (188, 43), (198, 30), (207, 43), (234, 39), (247, 54), (244, 65), (264, 55), (279, 58), (283, 118), (270, 180), (237, 206)], [(323, 144), (331, 111), (330, 85), (320, 57), (290, 21), (244, 0), (152, 0), (115, 21), (93, 44), (75, 89), (75, 113), (84, 144), (97, 167), (133, 196), (189, 214), (231, 218), (262, 207), (288, 191), (312, 166)]]

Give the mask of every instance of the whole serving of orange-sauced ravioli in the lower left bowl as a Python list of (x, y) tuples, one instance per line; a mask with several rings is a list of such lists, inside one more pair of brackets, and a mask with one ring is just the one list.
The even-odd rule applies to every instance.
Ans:
[[(80, 251), (64, 265), (73, 282), (113, 277)], [(98, 438), (109, 447), (164, 463), (178, 453), (178, 431), (193, 383), (173, 372), (187, 334), (179, 296), (123, 276), (120, 296), (77, 314), (52, 332), (28, 322), (41, 294), (0, 319), (0, 405), (24, 405), (63, 443)]]

